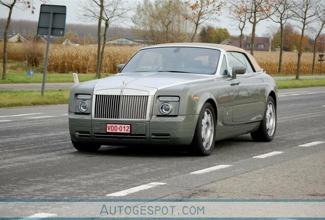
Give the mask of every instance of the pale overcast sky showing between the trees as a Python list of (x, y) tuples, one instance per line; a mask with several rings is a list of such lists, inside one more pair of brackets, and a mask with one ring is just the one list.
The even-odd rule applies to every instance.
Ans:
[[(48, 2), (49, 5), (64, 5), (66, 6), (67, 9), (67, 16), (66, 16), (66, 23), (85, 23), (84, 21), (81, 21), (77, 18), (77, 10), (78, 10), (78, 3), (80, 1), (85, 1), (85, 0), (51, 0)], [(130, 4), (134, 5), (139, 2), (142, 2), (143, 0), (128, 0)], [(152, 0), (153, 1), (153, 0)], [(36, 8), (35, 13), (31, 14), (30, 11), (28, 10), (21, 10), (18, 9), (17, 7), (13, 10), (12, 13), (12, 19), (24, 19), (24, 20), (38, 20), (39, 17), (39, 9), (40, 9), (40, 1), (34, 0), (34, 6)], [(21, 7), (21, 5), (19, 6)], [(4, 7), (0, 6), (0, 18), (7, 18), (8, 17), (8, 12), (9, 10)], [(240, 34), (239, 29), (236, 26), (236, 23), (229, 19), (227, 16), (229, 12), (227, 9), (224, 9), (224, 12), (222, 13), (223, 15), (220, 17), (220, 21), (214, 21), (210, 22), (212, 26), (218, 27), (218, 28), (226, 28), (230, 35), (237, 36)], [(130, 14), (131, 16), (131, 14)], [(207, 23), (206, 23), (207, 24)], [(123, 27), (130, 27), (132, 25), (132, 22), (125, 22), (121, 24)], [(203, 24), (204, 25), (204, 24)], [(270, 35), (270, 28), (271, 26), (276, 26), (275, 23), (271, 21), (262, 21), (261, 23), (258, 24), (257, 27), (257, 35), (258, 36), (269, 36)], [(246, 34), (251, 33), (251, 26), (248, 24), (247, 28), (245, 29)]]

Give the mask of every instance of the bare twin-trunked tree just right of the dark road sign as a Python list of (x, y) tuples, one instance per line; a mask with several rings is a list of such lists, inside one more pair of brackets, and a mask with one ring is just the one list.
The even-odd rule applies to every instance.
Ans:
[[(126, 19), (126, 12), (130, 11), (131, 7), (131, 5), (126, 6), (124, 0), (91, 0), (81, 4), (81, 17), (90, 21), (98, 21), (97, 78), (101, 77), (107, 30), (109, 26)], [(102, 22), (104, 22), (103, 41)]]

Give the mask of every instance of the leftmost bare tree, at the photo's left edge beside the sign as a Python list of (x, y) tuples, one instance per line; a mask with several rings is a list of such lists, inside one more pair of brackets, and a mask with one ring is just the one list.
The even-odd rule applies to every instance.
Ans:
[[(45, 1), (42, 1), (45, 2)], [(31, 1), (24, 1), (24, 0), (0, 0), (0, 6), (7, 7), (9, 9), (9, 14), (7, 17), (7, 23), (4, 31), (4, 59), (3, 59), (3, 72), (2, 72), (2, 79), (7, 78), (7, 59), (8, 59), (8, 30), (11, 21), (11, 14), (13, 8), (17, 4), (25, 4), (27, 8), (31, 9), (31, 13), (34, 13), (35, 8), (32, 6)]]

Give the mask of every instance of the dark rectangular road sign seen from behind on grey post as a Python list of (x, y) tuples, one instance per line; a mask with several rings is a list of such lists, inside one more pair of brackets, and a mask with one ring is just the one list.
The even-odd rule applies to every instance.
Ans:
[(47, 51), (45, 53), (43, 83), (41, 95), (44, 96), (45, 79), (48, 69), (50, 38), (51, 36), (64, 36), (65, 34), (66, 7), (57, 5), (41, 5), (38, 19), (38, 35), (47, 35)]

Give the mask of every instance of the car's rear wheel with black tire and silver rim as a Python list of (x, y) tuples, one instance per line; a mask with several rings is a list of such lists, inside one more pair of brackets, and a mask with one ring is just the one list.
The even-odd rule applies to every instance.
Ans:
[(274, 99), (269, 96), (266, 101), (263, 121), (257, 131), (251, 132), (254, 141), (270, 142), (273, 140), (276, 130), (276, 107)]

